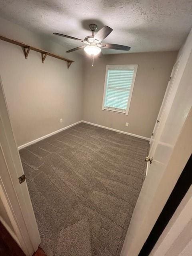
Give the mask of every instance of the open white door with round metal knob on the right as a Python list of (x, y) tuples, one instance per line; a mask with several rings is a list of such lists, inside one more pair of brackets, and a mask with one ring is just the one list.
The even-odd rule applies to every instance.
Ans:
[[(154, 150), (150, 152), (152, 164), (134, 208), (121, 256), (138, 256), (192, 152), (192, 34), (189, 40), (162, 113)], [(188, 123), (187, 132), (183, 132)]]

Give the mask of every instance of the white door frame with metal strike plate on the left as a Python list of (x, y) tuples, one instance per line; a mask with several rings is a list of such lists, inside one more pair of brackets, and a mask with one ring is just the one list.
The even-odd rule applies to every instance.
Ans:
[(18, 180), (23, 174), (0, 80), (0, 220), (26, 256), (31, 256), (40, 236), (26, 181)]

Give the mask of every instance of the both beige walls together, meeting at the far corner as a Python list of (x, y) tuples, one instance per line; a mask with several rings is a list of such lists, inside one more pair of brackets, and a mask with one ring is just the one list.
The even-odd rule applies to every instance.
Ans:
[[(106, 55), (92, 68), (89, 58), (65, 54), (50, 38), (3, 19), (0, 23), (4, 36), (75, 60), (69, 70), (66, 62), (49, 56), (42, 64), (38, 52), (30, 51), (26, 60), (20, 46), (0, 40), (0, 76), (18, 146), (82, 119), (150, 138), (176, 52)], [(128, 116), (102, 110), (106, 64), (138, 64)]]

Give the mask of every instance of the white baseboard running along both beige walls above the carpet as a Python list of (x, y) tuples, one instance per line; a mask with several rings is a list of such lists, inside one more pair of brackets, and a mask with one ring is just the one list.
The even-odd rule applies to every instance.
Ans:
[(101, 128), (107, 129), (107, 130), (111, 130), (111, 131), (114, 131), (114, 132), (120, 132), (120, 133), (123, 133), (123, 134), (126, 134), (126, 135), (130, 135), (130, 136), (133, 136), (133, 137), (136, 137), (136, 138), (140, 138), (140, 139), (144, 139), (144, 140), (150, 140), (150, 138), (147, 138), (147, 137), (144, 137), (144, 136), (140, 136), (140, 135), (133, 134), (133, 133), (130, 133), (130, 132), (124, 132), (124, 131), (116, 130), (116, 129), (114, 129), (114, 128), (110, 128), (110, 127), (107, 127), (107, 126), (102, 126), (102, 125), (100, 125), (100, 124), (94, 124), (94, 123), (91, 123), (91, 122), (87, 122), (87, 121), (84, 121), (84, 120), (80, 120), (80, 121), (78, 121), (78, 122), (76, 122), (76, 123), (74, 123), (74, 124), (70, 124), (70, 125), (68, 125), (68, 126), (66, 126), (66, 127), (64, 127), (64, 128), (61, 128), (61, 129), (56, 130), (56, 131), (54, 131), (54, 132), (51, 132), (51, 133), (49, 133), (49, 134), (47, 134), (47, 135), (45, 135), (45, 136), (42, 136), (42, 137), (40, 137), (40, 138), (38, 138), (38, 139), (36, 139), (36, 140), (32, 140), (32, 141), (30, 141), (30, 142), (27, 142), (26, 144), (23, 144), (23, 145), (19, 146), (19, 147), (18, 147), (18, 150), (20, 150), (20, 149), (22, 149), (22, 148), (26, 148), (27, 146), (30, 146), (30, 145), (32, 145), (32, 144), (34, 144), (34, 143), (36, 143), (36, 142), (38, 142), (38, 141), (40, 141), (40, 140), (44, 140), (45, 138), (48, 138), (48, 137), (50, 137), (50, 136), (52, 136), (52, 135), (54, 135), (54, 134), (56, 134), (56, 133), (58, 133), (58, 132), (62, 132), (62, 131), (64, 131), (64, 130), (66, 130), (66, 129), (68, 129), (68, 128), (70, 128), (70, 127), (76, 125), (76, 124), (80, 124), (80, 123), (91, 124), (91, 125), (98, 126), (98, 127), (101, 127)]

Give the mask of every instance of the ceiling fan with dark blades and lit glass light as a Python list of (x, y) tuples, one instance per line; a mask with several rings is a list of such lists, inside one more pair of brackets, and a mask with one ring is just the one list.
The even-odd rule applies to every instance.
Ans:
[(91, 58), (92, 58), (92, 66), (93, 66), (93, 62), (94, 62), (94, 56), (96, 56), (96, 55), (102, 56), (101, 48), (108, 48), (108, 49), (114, 49), (114, 50), (123, 50), (123, 51), (130, 50), (129, 46), (124, 46), (124, 45), (120, 45), (120, 44), (107, 44), (107, 43), (102, 44), (102, 40), (104, 40), (104, 38), (106, 38), (113, 31), (112, 28), (110, 28), (108, 26), (104, 26), (103, 28), (101, 28), (96, 33), (95, 36), (94, 36), (94, 32), (97, 30), (97, 25), (96, 24), (90, 24), (89, 28), (92, 31), (92, 35), (91, 36), (86, 36), (84, 38), (84, 40), (76, 38), (76, 37), (72, 37), (72, 36), (66, 36), (66, 35), (59, 34), (59, 33), (53, 33), (53, 34), (57, 35), (57, 36), (64, 36), (64, 37), (67, 37), (67, 38), (70, 38), (70, 39), (78, 40), (78, 41), (81, 41), (81, 42), (87, 44), (87, 45), (83, 45), (83, 46), (73, 48), (73, 49), (68, 50), (66, 52), (74, 52), (76, 50), (84, 49), (84, 51), (88, 55), (90, 55)]

